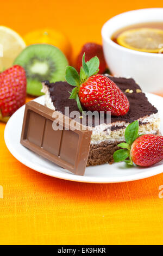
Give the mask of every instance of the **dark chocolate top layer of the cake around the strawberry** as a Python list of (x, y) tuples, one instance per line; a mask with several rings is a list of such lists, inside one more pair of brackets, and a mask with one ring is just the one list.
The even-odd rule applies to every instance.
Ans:
[[(145, 117), (146, 115), (155, 114), (158, 110), (148, 101), (145, 93), (137, 93), (136, 89), (140, 89), (140, 86), (135, 83), (133, 78), (111, 77), (109, 79), (116, 83), (116, 85), (122, 90), (128, 97), (130, 108), (126, 115), (115, 117), (111, 116), (111, 123), (117, 121), (125, 121), (126, 123), (132, 123), (133, 121)], [(49, 89), (52, 102), (57, 111), (64, 114), (65, 107), (69, 107), (69, 112), (79, 111), (77, 103), (73, 99), (68, 99), (70, 93), (74, 88), (67, 82), (55, 82), (49, 83), (45, 81), (46, 86)], [(126, 90), (133, 90), (133, 93), (127, 93)], [(86, 111), (86, 109), (83, 108)], [(95, 124), (93, 125), (95, 126)]]

